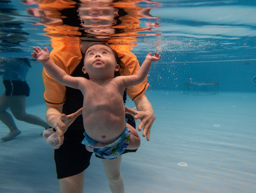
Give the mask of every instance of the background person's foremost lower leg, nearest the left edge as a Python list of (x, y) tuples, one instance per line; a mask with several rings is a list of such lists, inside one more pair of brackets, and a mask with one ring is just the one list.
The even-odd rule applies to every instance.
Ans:
[(11, 114), (6, 112), (8, 109), (8, 101), (6, 99), (5, 93), (0, 97), (0, 120), (9, 128), (10, 132), (7, 136), (2, 137), (1, 140), (8, 141), (12, 140), (12, 138), (18, 136), (21, 131), (19, 131), (18, 127), (14, 122), (14, 118), (12, 118)]

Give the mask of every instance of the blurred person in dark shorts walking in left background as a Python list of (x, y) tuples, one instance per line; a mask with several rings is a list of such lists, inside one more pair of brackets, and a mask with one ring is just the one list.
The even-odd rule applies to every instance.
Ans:
[[(31, 67), (27, 58), (0, 57), (0, 75), (5, 86), (5, 92), (0, 97), (0, 120), (10, 130), (9, 134), (0, 138), (8, 141), (18, 136), (21, 131), (15, 124), (12, 115), (20, 121), (48, 128), (46, 121), (26, 113), (26, 97), (29, 96), (29, 86), (26, 74)], [(11, 113), (6, 111), (11, 110)]]

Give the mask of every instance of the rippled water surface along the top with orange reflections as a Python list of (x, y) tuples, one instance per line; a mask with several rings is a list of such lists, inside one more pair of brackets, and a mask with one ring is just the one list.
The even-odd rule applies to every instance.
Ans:
[(0, 4), (0, 56), (6, 52), (29, 56), (32, 46), (49, 47), (54, 38), (121, 44), (138, 57), (158, 50), (162, 63), (255, 60), (254, 1), (1, 0)]

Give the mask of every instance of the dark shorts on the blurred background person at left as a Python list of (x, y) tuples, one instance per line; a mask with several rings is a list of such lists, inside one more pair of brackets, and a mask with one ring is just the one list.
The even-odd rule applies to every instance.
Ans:
[(25, 95), (29, 96), (29, 86), (25, 81), (4, 80), (6, 96)]

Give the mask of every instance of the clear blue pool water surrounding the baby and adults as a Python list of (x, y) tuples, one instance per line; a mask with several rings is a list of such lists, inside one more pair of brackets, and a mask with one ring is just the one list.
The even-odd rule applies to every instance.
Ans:
[[(30, 57), (35, 45), (49, 48), (45, 27), (32, 24), (40, 20), (26, 12), (36, 5), (9, 2), (19, 14), (7, 15), (21, 25), (18, 34), (26, 40), (17, 47), (21, 50), (7, 47), (5, 31), (0, 57)], [(159, 18), (140, 19), (141, 26), (159, 22), (152, 28), (159, 35), (138, 37), (132, 50), (140, 63), (154, 50), (162, 58), (148, 76), (146, 95), (156, 116), (151, 139), (142, 138), (137, 153), (122, 157), (125, 192), (256, 192), (255, 1), (159, 2), (150, 11)], [(3, 10), (1, 32), (6, 26)], [(32, 61), (27, 111), (45, 118), (41, 71)], [(186, 82), (220, 84), (216, 94), (206, 88), (196, 94), (184, 93)], [(127, 105), (134, 107), (132, 101)], [(59, 192), (53, 151), (40, 136), (41, 128), (16, 123), (22, 134), (0, 143), (0, 192)], [(2, 123), (0, 128), (0, 136), (5, 136), (7, 128)], [(94, 156), (85, 172), (85, 192), (109, 192), (101, 161)]]

